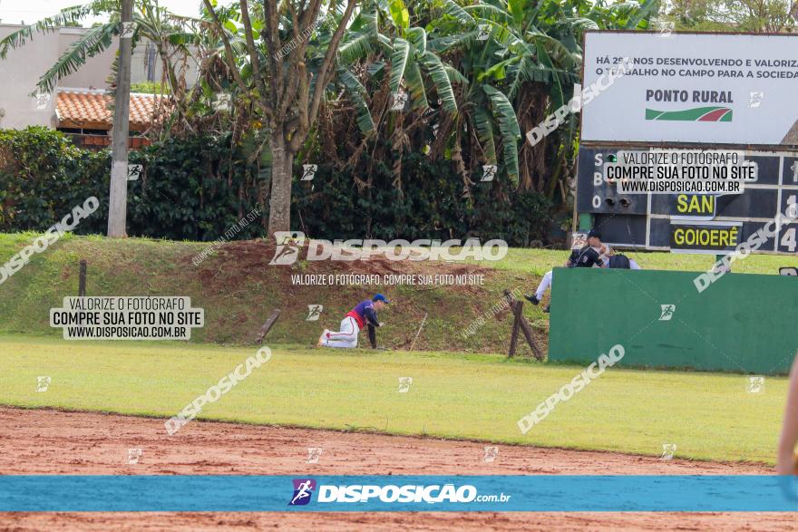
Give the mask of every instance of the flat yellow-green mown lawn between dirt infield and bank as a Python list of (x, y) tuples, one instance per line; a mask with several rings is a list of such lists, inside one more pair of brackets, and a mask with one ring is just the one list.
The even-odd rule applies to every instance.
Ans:
[[(272, 359), (201, 418), (444, 438), (774, 462), (786, 380), (608, 370), (521, 435), (517, 421), (581, 371), (501, 355), (273, 347)], [(0, 336), (0, 403), (175, 415), (255, 353), (188, 343)], [(36, 392), (36, 377), (52, 378)], [(398, 379), (413, 377), (407, 393)]]

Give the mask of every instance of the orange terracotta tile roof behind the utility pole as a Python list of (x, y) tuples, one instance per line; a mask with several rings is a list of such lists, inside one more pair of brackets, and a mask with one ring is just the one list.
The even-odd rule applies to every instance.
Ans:
[[(146, 130), (151, 126), (157, 102), (163, 98), (155, 94), (131, 94), (131, 130)], [(56, 115), (61, 127), (70, 125), (102, 126), (111, 129), (112, 97), (99, 91), (62, 90), (58, 92)]]

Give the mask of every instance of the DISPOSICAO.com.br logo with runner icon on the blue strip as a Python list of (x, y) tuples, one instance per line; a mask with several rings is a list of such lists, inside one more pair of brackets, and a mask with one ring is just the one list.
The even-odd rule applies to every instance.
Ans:
[[(333, 486), (316, 485), (314, 479), (294, 479), (294, 493), (288, 506), (305, 506), (317, 491), (318, 503), (469, 503), (469, 502), (508, 502), (511, 495), (479, 495), (471, 484), (433, 484), (429, 486), (406, 484), (351, 484)], [(317, 488), (317, 489), (316, 489)]]

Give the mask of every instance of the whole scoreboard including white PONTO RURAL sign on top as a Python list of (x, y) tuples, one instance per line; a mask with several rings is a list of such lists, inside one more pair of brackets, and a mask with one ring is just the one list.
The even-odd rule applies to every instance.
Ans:
[[(796, 44), (794, 34), (585, 32), (576, 210), (592, 219), (579, 228), (618, 247), (798, 252), (798, 221), (768, 225), (798, 204)], [(726, 155), (732, 163), (718, 162)]]

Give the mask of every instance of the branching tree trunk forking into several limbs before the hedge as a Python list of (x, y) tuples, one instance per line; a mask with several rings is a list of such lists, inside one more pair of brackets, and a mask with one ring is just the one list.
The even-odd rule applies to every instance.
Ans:
[[(215, 34), (224, 44), (223, 58), (238, 86), (239, 97), (246, 96), (254, 102), (273, 131), (268, 234), (274, 236), (277, 231), (290, 231), (294, 156), (302, 149), (307, 134), (316, 123), (326, 87), (335, 76), (338, 46), (355, 11), (356, 1), (346, 0), (343, 13), (334, 16), (340, 13), (341, 6), (337, 0), (263, 0), (260, 3), (257, 0), (238, 0), (242, 28), (235, 33), (247, 45), (251, 67), (251, 77), (248, 79), (242, 75), (244, 69), (238, 63), (241, 53), (233, 50), (229, 38), (229, 20), (222, 21), (219, 18), (215, 4), (212, 0), (203, 0), (213, 20)], [(253, 29), (250, 11), (251, 16), (262, 23), (259, 30)], [(324, 19), (319, 19), (321, 14), (324, 14)], [(331, 20), (335, 20), (336, 27), (326, 42), (326, 50), (321, 49), (324, 59), (310, 73), (306, 62), (314, 58), (313, 62), (316, 63), (315, 54), (320, 51), (316, 48), (317, 44), (313, 44), (313, 52), (308, 55), (311, 35), (318, 31), (319, 24)], [(284, 42), (281, 28), (288, 26), (291, 32)], [(262, 44), (257, 44), (255, 40), (254, 35), (258, 31)], [(304, 35), (304, 38), (300, 38), (300, 35)], [(261, 64), (261, 58), (267, 63)]]

